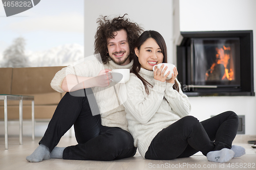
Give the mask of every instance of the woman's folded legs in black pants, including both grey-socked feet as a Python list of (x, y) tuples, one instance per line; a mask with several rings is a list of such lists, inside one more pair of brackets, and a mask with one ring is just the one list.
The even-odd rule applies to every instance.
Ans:
[[(189, 157), (191, 155), (194, 155), (198, 151), (201, 151), (205, 156), (207, 155), (207, 159), (210, 161), (227, 162), (233, 157), (239, 157), (245, 154), (245, 150), (243, 147), (237, 145), (232, 146), (232, 141), (237, 134), (238, 128), (238, 116), (236, 113), (232, 111), (221, 113), (217, 116), (204, 120), (200, 123), (201, 126), (200, 124), (198, 124), (198, 120), (195, 121), (195, 119), (196, 118), (193, 119), (192, 116), (183, 117), (176, 123), (163, 129), (156, 136), (157, 138), (163, 138), (164, 136), (166, 136), (166, 134), (168, 134), (164, 134), (165, 131), (168, 131), (166, 129), (170, 128), (169, 131), (172, 131), (170, 134), (174, 138), (173, 141), (170, 141), (170, 146), (168, 147), (171, 148), (170, 151), (165, 153), (172, 154), (162, 154), (161, 152), (157, 153), (157, 151), (161, 151), (161, 149), (157, 149), (157, 147), (161, 147), (163, 143), (156, 144), (157, 139), (155, 139), (155, 137), (150, 147), (148, 148), (145, 157), (148, 159), (158, 159), (158, 157), (160, 157), (160, 155), (162, 154), (161, 159), (174, 159), (176, 157)], [(190, 130), (188, 127), (190, 127)], [(180, 129), (183, 130), (179, 131)], [(180, 133), (181, 137), (178, 134), (173, 134), (175, 132)], [(167, 138), (165, 137), (164, 139)], [(187, 142), (185, 142), (186, 139)], [(161, 142), (161, 139), (159, 140), (159, 142)], [(208, 145), (207, 143), (211, 143), (211, 146), (206, 147)], [(212, 143), (214, 143), (213, 148)]]

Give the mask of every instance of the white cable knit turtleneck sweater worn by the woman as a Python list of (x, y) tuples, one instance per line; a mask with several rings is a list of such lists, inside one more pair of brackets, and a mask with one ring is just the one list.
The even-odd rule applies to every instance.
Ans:
[(153, 71), (141, 68), (139, 74), (154, 86), (148, 88), (150, 94), (146, 93), (141, 80), (131, 74), (126, 85), (121, 86), (120, 100), (125, 107), (134, 145), (145, 158), (145, 153), (158, 132), (188, 115), (190, 103), (181, 88), (178, 92), (173, 89), (174, 84), (155, 80)]

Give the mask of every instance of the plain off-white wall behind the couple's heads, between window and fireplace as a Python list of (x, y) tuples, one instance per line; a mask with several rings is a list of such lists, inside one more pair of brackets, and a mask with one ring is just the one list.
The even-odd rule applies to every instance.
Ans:
[[(137, 22), (144, 30), (158, 31), (167, 44), (168, 62), (173, 62), (173, 1), (84, 1), (84, 56), (94, 52), (94, 36), (98, 27), (96, 20), (100, 15), (119, 16), (125, 13), (132, 22)], [(113, 18), (112, 17), (112, 18)]]

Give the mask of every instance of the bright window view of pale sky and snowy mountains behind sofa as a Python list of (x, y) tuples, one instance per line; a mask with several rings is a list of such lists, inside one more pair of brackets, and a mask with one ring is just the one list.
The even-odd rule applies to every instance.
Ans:
[(44, 0), (1, 17), (0, 25), (0, 67), (67, 66), (84, 58), (83, 1)]

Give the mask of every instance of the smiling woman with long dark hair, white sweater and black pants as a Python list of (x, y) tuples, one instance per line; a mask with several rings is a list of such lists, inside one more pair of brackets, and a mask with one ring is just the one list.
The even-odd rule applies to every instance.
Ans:
[(120, 95), (142, 157), (170, 160), (201, 151), (209, 161), (227, 162), (242, 156), (244, 148), (232, 146), (238, 115), (227, 111), (203, 122), (188, 116), (191, 107), (176, 79), (177, 68), (166, 80), (164, 65), (153, 71), (159, 63), (167, 63), (165, 41), (158, 32), (145, 31), (135, 43), (132, 74)]

